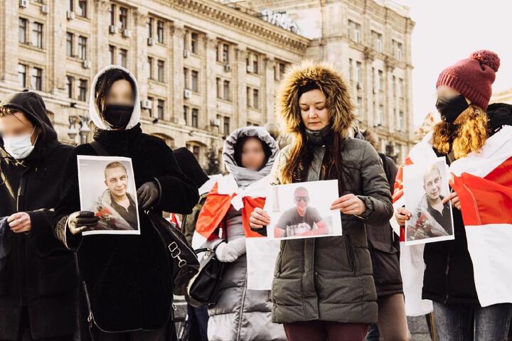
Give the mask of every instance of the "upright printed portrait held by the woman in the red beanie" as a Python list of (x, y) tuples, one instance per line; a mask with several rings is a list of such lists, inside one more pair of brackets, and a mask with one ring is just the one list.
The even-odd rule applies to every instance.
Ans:
[(425, 244), (454, 239), (449, 168), (444, 158), (404, 167), (405, 244)]

